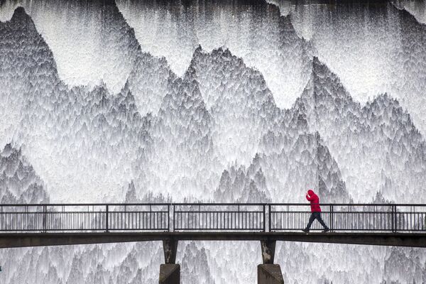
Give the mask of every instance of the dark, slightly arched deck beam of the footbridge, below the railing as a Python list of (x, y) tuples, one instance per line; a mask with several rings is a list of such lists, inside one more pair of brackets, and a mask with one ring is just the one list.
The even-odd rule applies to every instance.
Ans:
[(152, 233), (11, 233), (0, 234), (0, 249), (27, 246), (107, 244), (132, 241), (302, 241), (329, 244), (426, 247), (426, 234), (297, 232), (152, 232)]

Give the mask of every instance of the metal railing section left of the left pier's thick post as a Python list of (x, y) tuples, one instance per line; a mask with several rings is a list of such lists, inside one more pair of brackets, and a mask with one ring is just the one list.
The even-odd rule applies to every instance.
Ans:
[(0, 204), (0, 231), (169, 231), (170, 204)]

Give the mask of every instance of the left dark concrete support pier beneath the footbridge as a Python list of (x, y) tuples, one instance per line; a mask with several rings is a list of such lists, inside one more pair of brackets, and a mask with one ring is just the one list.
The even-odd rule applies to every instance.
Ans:
[(176, 264), (178, 241), (166, 239), (163, 241), (164, 264), (160, 265), (159, 284), (180, 284), (180, 265)]

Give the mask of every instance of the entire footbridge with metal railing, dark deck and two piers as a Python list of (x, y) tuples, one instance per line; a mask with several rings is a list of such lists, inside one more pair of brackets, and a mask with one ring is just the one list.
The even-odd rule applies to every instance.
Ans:
[(178, 241), (260, 241), (258, 283), (283, 283), (276, 241), (426, 247), (426, 204), (0, 204), (0, 248), (163, 241), (159, 283), (180, 283)]

